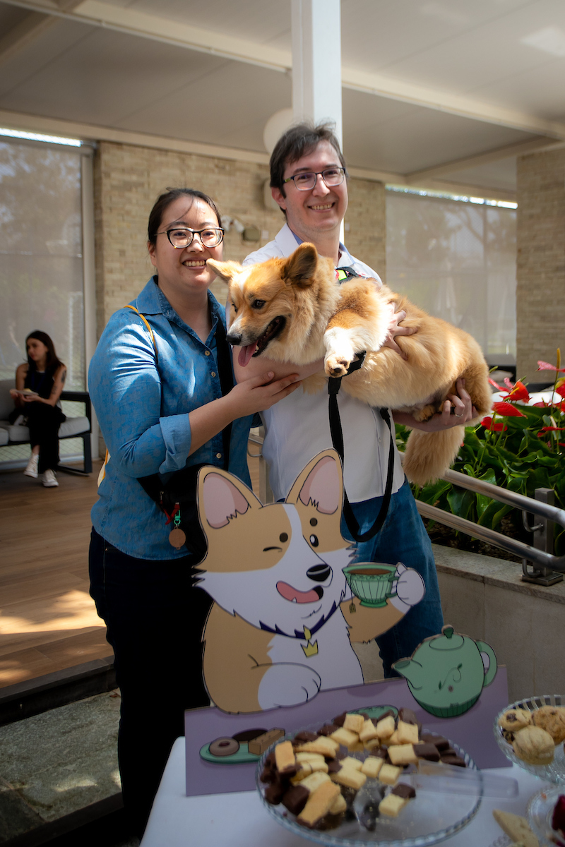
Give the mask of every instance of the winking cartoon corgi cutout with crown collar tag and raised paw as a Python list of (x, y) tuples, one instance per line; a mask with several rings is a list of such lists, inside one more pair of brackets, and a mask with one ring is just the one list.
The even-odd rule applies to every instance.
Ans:
[(352, 602), (342, 499), (334, 450), (307, 464), (284, 503), (268, 506), (233, 474), (201, 469), (198, 517), (208, 552), (197, 572), (214, 601), (203, 671), (223, 711), (294, 706), (320, 689), (363, 684), (352, 641), (374, 639), (424, 596), (419, 573), (399, 563), (385, 606)]

